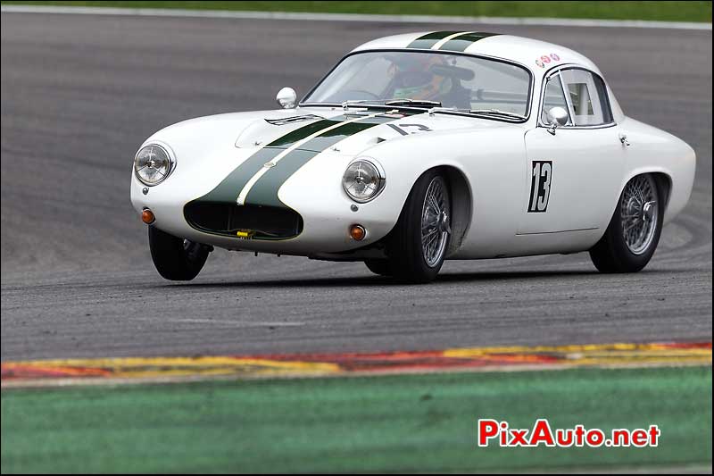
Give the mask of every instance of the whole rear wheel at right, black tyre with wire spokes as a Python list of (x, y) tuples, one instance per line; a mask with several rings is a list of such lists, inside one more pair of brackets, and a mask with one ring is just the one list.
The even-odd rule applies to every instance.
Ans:
[(660, 242), (664, 193), (652, 174), (627, 182), (605, 234), (590, 258), (598, 271), (636, 272), (650, 262)]

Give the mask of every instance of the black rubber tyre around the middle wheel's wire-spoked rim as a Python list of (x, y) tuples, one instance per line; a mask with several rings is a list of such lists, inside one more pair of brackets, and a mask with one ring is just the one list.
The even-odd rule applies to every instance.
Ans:
[[(436, 263), (429, 264), (422, 250), (422, 211), (425, 206), (428, 188), (433, 181), (439, 181), (443, 187), (444, 212), (446, 213), (445, 230), (438, 231), (439, 236), (444, 236), (443, 248)], [(451, 194), (448, 180), (437, 170), (427, 171), (411, 188), (399, 215), (394, 229), (390, 233), (387, 242), (387, 256), (389, 271), (397, 280), (410, 283), (427, 283), (436, 278), (442, 264), (444, 256), (449, 246), (451, 230), (449, 220), (451, 220)], [(445, 234), (442, 235), (445, 231)], [(442, 238), (437, 238), (442, 239)], [(439, 242), (441, 243), (441, 241)]]

